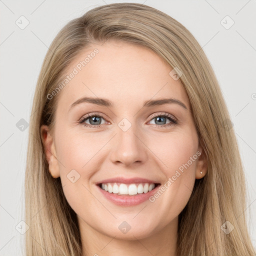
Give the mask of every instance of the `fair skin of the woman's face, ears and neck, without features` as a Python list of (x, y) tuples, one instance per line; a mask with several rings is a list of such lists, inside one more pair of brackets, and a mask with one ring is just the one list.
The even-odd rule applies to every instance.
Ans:
[[(125, 42), (90, 45), (66, 73), (94, 48), (99, 52), (59, 92), (53, 131), (41, 126), (49, 169), (60, 177), (65, 197), (77, 214), (83, 255), (175, 256), (178, 214), (195, 179), (202, 178), (207, 169), (189, 99), (180, 79), (169, 75), (172, 68), (159, 56)], [(69, 110), (85, 96), (108, 99), (113, 106), (83, 102)], [(142, 107), (144, 101), (160, 98), (177, 99), (187, 109), (177, 103)], [(95, 112), (102, 116), (96, 124), (92, 117), (79, 123)], [(158, 117), (157, 122), (156, 117), (163, 113), (177, 124), (167, 117)], [(126, 131), (118, 126), (123, 118), (131, 124)], [(96, 185), (117, 176), (146, 178), (163, 185), (196, 151), (201, 155), (153, 202), (116, 205)], [(67, 178), (72, 169), (80, 175), (74, 183)], [(118, 228), (123, 221), (130, 226), (126, 233)]]

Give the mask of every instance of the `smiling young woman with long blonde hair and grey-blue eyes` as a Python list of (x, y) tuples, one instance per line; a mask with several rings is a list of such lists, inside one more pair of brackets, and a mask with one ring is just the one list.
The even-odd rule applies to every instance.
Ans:
[(114, 3), (71, 20), (32, 113), (27, 255), (254, 255), (227, 108), (175, 19)]

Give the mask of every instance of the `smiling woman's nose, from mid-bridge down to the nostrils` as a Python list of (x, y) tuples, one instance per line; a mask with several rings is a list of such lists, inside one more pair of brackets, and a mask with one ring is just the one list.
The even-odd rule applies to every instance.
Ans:
[(117, 126), (117, 134), (113, 138), (111, 161), (116, 164), (131, 166), (143, 163), (147, 159), (147, 146), (143, 135), (132, 124), (128, 130)]

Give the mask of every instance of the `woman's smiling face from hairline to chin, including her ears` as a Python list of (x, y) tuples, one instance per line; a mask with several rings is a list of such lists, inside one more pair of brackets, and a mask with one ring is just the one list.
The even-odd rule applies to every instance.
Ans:
[(80, 228), (123, 239), (176, 228), (205, 172), (189, 100), (171, 70), (154, 52), (117, 41), (93, 44), (69, 65), (45, 143)]

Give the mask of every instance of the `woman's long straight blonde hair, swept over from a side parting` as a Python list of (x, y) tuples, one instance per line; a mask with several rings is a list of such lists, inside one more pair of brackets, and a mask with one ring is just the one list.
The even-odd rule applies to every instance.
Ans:
[[(190, 100), (208, 170), (202, 179), (195, 180), (191, 197), (179, 214), (177, 255), (254, 255), (246, 226), (246, 190), (237, 142), (210, 63), (183, 25), (157, 9), (138, 3), (113, 3), (87, 11), (59, 31), (46, 53), (29, 126), (26, 255), (82, 253), (76, 214), (65, 199), (60, 178), (49, 174), (40, 126), (46, 124), (51, 129), (54, 125), (61, 91), (50, 100), (47, 95), (57, 87), (72, 59), (91, 43), (108, 39), (145, 46), (183, 73), (179, 79)], [(223, 231), (223, 223), (229, 233)]]

